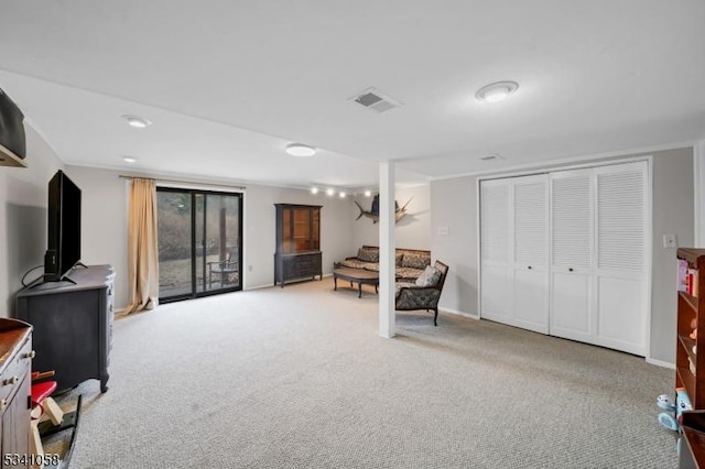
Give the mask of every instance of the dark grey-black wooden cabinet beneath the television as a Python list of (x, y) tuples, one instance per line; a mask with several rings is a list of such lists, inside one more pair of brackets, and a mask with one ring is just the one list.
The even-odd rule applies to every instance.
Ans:
[(34, 327), (34, 368), (56, 372), (56, 390), (89, 380), (108, 390), (112, 349), (113, 280), (110, 265), (76, 268), (75, 282), (47, 282), (18, 294), (17, 317)]

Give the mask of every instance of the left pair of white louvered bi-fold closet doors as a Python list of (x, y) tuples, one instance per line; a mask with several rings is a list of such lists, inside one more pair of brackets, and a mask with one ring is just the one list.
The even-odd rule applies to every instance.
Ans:
[(480, 310), (549, 334), (547, 175), (480, 184)]

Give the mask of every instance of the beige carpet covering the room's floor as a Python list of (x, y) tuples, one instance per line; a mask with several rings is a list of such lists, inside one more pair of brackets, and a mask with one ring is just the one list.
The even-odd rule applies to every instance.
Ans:
[(305, 282), (117, 319), (72, 468), (677, 467), (643, 358)]

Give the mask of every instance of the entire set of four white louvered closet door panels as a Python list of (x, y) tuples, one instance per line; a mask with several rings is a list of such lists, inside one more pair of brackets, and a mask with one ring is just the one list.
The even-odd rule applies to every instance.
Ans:
[(646, 355), (646, 161), (480, 183), (480, 316)]

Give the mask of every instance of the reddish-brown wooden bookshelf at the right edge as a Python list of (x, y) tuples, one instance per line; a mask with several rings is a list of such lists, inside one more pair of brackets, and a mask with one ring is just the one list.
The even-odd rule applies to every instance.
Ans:
[[(698, 295), (677, 293), (675, 386), (685, 388), (693, 408), (702, 410), (705, 408), (705, 249), (680, 248), (676, 257), (695, 270), (693, 282)], [(693, 320), (695, 339), (691, 338)]]

